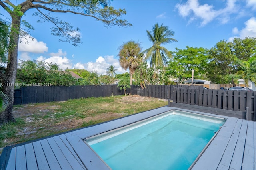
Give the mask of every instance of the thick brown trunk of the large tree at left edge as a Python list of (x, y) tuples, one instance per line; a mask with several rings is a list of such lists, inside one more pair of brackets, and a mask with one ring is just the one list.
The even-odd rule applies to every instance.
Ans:
[(18, 65), (18, 44), (19, 44), (19, 33), (20, 33), (20, 22), (21, 16), (12, 16), (12, 26), (10, 31), (10, 38), (12, 38), (15, 47), (9, 48), (8, 51), (8, 63), (6, 67), (6, 72), (4, 74), (3, 79), (3, 92), (8, 95), (10, 98), (9, 106), (7, 109), (0, 113), (0, 124), (4, 124), (6, 122), (15, 121), (12, 115), (12, 107), (14, 101), (14, 83), (16, 79), (17, 73), (17, 65)]

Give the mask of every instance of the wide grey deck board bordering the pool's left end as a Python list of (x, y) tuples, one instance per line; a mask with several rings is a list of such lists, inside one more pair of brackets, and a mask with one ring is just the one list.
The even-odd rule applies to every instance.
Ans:
[(96, 155), (96, 153), (91, 150), (84, 141), (78, 136), (72, 136), (67, 138), (68, 142), (74, 148), (76, 154), (82, 160), (84, 166), (89, 170), (109, 170), (110, 168), (104, 163), (102, 159)]

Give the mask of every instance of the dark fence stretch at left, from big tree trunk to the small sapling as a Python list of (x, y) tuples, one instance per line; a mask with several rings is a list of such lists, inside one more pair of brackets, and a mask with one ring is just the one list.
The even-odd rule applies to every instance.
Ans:
[(117, 85), (102, 86), (27, 86), (14, 93), (14, 105), (42, 103), (51, 101), (66, 101), (87, 97), (105, 97), (122, 95), (124, 91)]

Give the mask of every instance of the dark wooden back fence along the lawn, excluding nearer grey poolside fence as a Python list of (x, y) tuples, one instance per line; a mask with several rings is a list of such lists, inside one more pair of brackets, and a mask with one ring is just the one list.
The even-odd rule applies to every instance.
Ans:
[[(156, 97), (160, 99), (172, 99), (172, 89), (174, 87), (196, 88), (202, 86), (188, 85), (146, 85), (142, 89), (138, 85), (132, 85), (127, 89), (128, 94)], [(111, 95), (124, 95), (124, 90), (120, 90), (117, 85), (101, 86), (27, 86), (21, 87), (14, 93), (14, 105), (28, 103), (42, 103), (51, 101), (66, 101), (68, 99), (79, 99), (87, 97), (105, 97)]]

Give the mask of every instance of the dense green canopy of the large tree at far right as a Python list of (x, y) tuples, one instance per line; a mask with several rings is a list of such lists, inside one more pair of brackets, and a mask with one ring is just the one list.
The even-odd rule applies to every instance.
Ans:
[(212, 83), (232, 83), (242, 78), (243, 61), (248, 62), (256, 55), (256, 38), (234, 38), (233, 42), (221, 40), (210, 49), (207, 77)]

